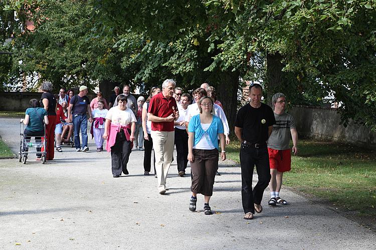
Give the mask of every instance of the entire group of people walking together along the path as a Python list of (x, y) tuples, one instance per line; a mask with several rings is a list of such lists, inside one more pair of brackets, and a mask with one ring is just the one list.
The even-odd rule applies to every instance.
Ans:
[[(44, 117), (47, 160), (54, 157), (54, 132), (61, 135), (63, 126), (73, 128), (76, 151), (89, 150), (88, 113), (97, 151), (103, 150), (106, 140), (106, 150), (111, 154), (113, 177), (119, 177), (122, 173), (129, 174), (127, 163), (133, 144), (140, 150), (143, 145), (144, 175), (150, 174), (151, 154), (154, 151), (153, 165), (157, 188), (160, 194), (164, 194), (168, 190), (167, 173), (176, 145), (178, 175), (184, 176), (188, 161), (191, 163), (192, 194), (189, 209), (196, 210), (197, 194), (201, 193), (204, 195), (205, 214), (212, 214), (209, 201), (213, 195), (215, 176), (218, 174), (219, 157), (221, 160), (226, 159), (226, 144), (230, 143), (230, 131), (222, 103), (216, 99), (215, 90), (208, 83), (202, 84), (193, 92), (192, 104), (191, 95), (183, 93), (172, 79), (166, 79), (161, 88), (152, 87), (146, 101), (142, 96), (136, 100), (130, 94), (128, 85), (124, 86), (123, 94), (120, 94), (119, 87), (115, 87), (108, 105), (101, 92), (89, 102), (86, 86), (80, 86), (77, 95), (67, 97), (64, 95), (65, 89), (61, 89), (62, 94), (57, 97), (51, 94), (50, 82), (44, 82), (42, 89), (43, 108), (37, 107), (38, 104), (31, 101), (37, 115), (28, 109), (24, 123), (28, 125), (25, 133), (35, 135), (40, 131), (40, 127), (33, 128), (38, 120), (37, 116)], [(252, 219), (255, 211), (262, 212), (261, 200), (268, 184), (271, 193), (268, 204), (287, 204), (286, 200), (280, 198), (279, 191), (283, 172), (291, 168), (291, 136), (292, 152), (297, 152), (298, 138), (294, 119), (285, 113), (286, 97), (283, 93), (273, 96), (274, 112), (270, 106), (261, 102), (261, 97), (262, 86), (251, 84), (250, 102), (239, 109), (235, 121), (235, 134), (241, 142), (242, 203), (245, 219)], [(39, 119), (42, 125), (43, 120)], [(38, 131), (32, 131), (33, 129)], [(142, 139), (138, 139), (139, 137)], [(59, 140), (64, 141), (64, 136)], [(60, 141), (59, 146), (57, 142), (58, 151), (59, 148)], [(258, 182), (252, 188), (254, 166)]]

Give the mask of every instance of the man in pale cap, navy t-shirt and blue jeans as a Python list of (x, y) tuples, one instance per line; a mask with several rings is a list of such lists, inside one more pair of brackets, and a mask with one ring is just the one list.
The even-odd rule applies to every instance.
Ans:
[[(73, 96), (70, 100), (68, 106), (68, 117), (73, 117), (73, 131), (74, 131), (74, 144), (76, 146), (76, 152), (79, 151), (88, 151), (89, 147), (87, 146), (87, 116), (86, 112), (89, 113), (89, 121), (93, 121), (93, 117), (91, 115), (91, 108), (90, 108), (90, 101), (89, 98), (86, 96), (88, 93), (88, 89), (86, 86), (80, 86), (80, 92)], [(68, 118), (68, 122), (72, 122), (70, 118)], [(80, 144), (80, 129), (81, 129), (81, 137), (82, 137), (82, 149)]]

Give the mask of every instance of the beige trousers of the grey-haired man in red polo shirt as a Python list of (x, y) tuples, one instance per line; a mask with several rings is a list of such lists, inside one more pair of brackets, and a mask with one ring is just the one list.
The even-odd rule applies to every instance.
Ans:
[(166, 187), (166, 177), (170, 168), (173, 154), (174, 131), (151, 131), (155, 153), (155, 170), (158, 188)]

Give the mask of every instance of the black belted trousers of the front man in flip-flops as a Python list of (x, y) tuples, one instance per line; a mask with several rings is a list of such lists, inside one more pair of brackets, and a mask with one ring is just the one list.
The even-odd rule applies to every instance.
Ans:
[[(268, 148), (255, 148), (242, 144), (240, 148), (242, 168), (242, 203), (244, 213), (255, 213), (254, 203), (260, 204), (271, 175)], [(253, 169), (256, 165), (258, 182), (252, 191)]]

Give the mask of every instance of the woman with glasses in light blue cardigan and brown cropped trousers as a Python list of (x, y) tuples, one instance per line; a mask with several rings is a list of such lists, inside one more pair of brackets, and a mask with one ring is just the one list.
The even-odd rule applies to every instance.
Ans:
[(213, 195), (214, 178), (218, 169), (218, 136), (221, 142), (221, 159), (226, 159), (226, 140), (223, 123), (212, 114), (214, 101), (204, 96), (199, 101), (200, 114), (192, 117), (188, 125), (188, 160), (191, 161), (192, 197), (190, 210), (196, 211), (197, 194), (205, 196), (204, 212), (212, 214), (209, 200)]

